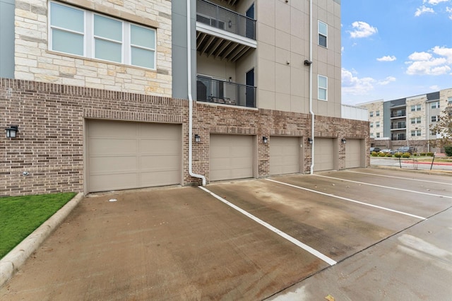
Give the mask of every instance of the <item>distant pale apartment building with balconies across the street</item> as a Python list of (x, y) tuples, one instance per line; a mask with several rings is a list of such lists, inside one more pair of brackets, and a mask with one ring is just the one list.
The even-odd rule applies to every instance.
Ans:
[[(418, 152), (440, 152), (429, 141), (439, 138), (431, 129), (452, 106), (452, 88), (397, 100), (358, 104), (369, 114), (371, 146), (396, 149), (412, 146)], [(450, 109), (449, 109), (450, 110)]]

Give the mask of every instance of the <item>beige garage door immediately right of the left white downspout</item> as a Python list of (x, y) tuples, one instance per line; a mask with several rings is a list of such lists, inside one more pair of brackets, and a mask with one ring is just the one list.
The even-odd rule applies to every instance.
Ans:
[(210, 136), (210, 181), (253, 177), (253, 136)]

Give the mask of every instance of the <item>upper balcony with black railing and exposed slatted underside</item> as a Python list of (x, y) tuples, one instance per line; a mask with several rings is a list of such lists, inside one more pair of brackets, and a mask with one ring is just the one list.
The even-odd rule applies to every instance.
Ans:
[(201, 55), (234, 62), (256, 47), (256, 20), (206, 0), (196, 2), (196, 49)]

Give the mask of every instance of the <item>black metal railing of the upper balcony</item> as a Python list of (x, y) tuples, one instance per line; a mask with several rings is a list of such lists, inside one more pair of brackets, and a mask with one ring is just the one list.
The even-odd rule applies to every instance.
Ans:
[(206, 0), (196, 5), (196, 21), (256, 40), (256, 20)]

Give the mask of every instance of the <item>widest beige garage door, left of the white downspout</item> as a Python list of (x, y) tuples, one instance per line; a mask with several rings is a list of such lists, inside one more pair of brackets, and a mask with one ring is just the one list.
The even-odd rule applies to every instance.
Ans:
[(181, 126), (88, 122), (88, 191), (181, 183)]

